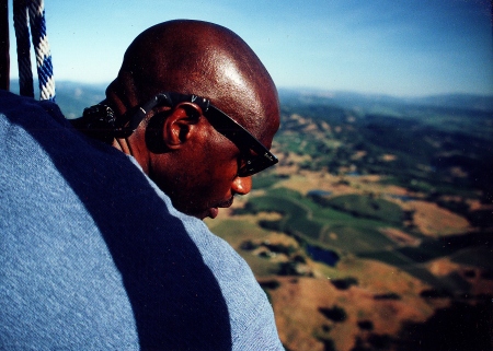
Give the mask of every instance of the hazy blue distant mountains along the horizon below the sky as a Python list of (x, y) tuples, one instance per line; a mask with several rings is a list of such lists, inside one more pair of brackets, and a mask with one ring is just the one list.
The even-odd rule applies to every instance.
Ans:
[[(57, 81), (57, 103), (68, 118), (81, 116), (84, 107), (101, 102), (107, 84), (88, 84), (70, 81)], [(37, 83), (35, 83), (37, 86)], [(19, 82), (11, 82), (11, 91), (19, 93)], [(37, 97), (37, 92), (35, 96)], [(405, 106), (439, 107), (450, 109), (467, 109), (493, 113), (493, 95), (444, 94), (424, 97), (395, 97), (382, 94), (362, 94), (355, 92), (322, 91), (309, 89), (279, 89), (282, 104), (317, 104), (339, 106), (351, 109), (397, 110)]]

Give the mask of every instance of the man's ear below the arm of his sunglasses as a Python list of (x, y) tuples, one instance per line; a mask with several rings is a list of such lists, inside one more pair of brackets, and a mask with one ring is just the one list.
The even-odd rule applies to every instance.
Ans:
[(174, 107), (162, 125), (162, 141), (170, 150), (179, 149), (195, 131), (202, 109), (193, 103)]

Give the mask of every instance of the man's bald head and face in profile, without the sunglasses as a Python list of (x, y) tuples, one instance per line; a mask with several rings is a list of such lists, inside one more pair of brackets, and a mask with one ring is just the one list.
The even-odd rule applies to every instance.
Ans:
[[(159, 93), (196, 95), (222, 110), (266, 148), (279, 125), (275, 85), (251, 48), (234, 33), (198, 21), (172, 21), (140, 34), (106, 91), (119, 118)], [(157, 104), (126, 140), (142, 169), (181, 211), (216, 217), (236, 194), (251, 189), (239, 168), (254, 151), (221, 132), (220, 118), (193, 98)], [(213, 116), (215, 115), (215, 116)], [(225, 119), (225, 120), (226, 120)], [(127, 149), (128, 148), (128, 149)]]

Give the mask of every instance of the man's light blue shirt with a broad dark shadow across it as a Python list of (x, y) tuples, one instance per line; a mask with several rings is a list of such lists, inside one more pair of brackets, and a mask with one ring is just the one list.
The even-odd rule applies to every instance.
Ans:
[(58, 107), (0, 91), (1, 350), (283, 350), (245, 261)]

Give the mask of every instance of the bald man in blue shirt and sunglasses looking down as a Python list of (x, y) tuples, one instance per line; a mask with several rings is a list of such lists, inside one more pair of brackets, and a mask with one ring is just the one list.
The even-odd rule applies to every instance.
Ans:
[(200, 221), (274, 164), (277, 93), (210, 23), (156, 25), (73, 125), (0, 93), (0, 349), (282, 350), (246, 264)]

